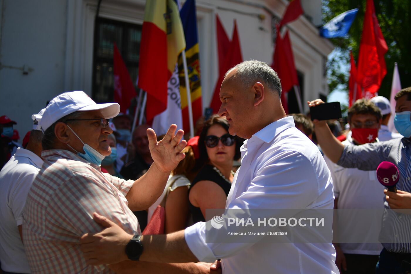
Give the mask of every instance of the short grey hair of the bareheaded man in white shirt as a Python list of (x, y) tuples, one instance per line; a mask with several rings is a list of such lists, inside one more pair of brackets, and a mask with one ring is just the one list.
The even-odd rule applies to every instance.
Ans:
[(244, 61), (229, 69), (224, 77), (235, 69), (237, 69), (236, 77), (240, 77), (245, 86), (250, 87), (256, 82), (263, 81), (272, 92), (277, 92), (279, 98), (281, 98), (281, 81), (277, 72), (267, 63), (257, 60)]

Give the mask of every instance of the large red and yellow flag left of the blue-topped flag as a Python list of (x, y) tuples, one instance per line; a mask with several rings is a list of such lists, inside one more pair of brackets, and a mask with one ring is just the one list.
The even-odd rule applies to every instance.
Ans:
[(146, 120), (167, 107), (167, 82), (185, 49), (180, 12), (174, 0), (147, 0), (141, 33), (139, 87), (147, 92)]

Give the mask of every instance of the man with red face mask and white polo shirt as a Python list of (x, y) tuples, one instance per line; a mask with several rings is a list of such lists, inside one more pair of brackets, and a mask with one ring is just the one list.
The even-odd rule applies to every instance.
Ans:
[[(379, 142), (378, 130), (381, 126), (381, 111), (366, 99), (357, 100), (348, 110), (348, 123), (351, 131), (342, 144), (360, 145)], [(334, 183), (334, 208), (340, 209), (383, 209), (384, 187), (376, 178), (375, 171), (341, 167), (324, 156)], [(338, 216), (338, 223), (344, 223), (335, 233), (344, 234), (353, 229), (358, 220), (355, 214)], [(382, 210), (381, 210), (382, 215)], [(341, 218), (344, 218), (341, 220)], [(337, 220), (335, 220), (337, 221)], [(370, 236), (369, 236), (370, 237)], [(340, 273), (373, 273), (381, 244), (334, 244), (337, 251), (336, 265)], [(369, 241), (370, 242), (370, 241)]]

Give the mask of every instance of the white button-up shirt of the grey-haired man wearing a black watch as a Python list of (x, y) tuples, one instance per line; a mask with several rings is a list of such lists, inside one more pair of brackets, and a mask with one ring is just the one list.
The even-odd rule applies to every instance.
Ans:
[[(241, 167), (227, 197), (227, 209), (332, 209), (330, 171), (318, 148), (293, 117), (282, 118), (254, 134), (241, 147)], [(185, 230), (185, 240), (200, 260), (222, 258), (227, 273), (338, 273), (329, 244), (212, 244), (205, 223)]]

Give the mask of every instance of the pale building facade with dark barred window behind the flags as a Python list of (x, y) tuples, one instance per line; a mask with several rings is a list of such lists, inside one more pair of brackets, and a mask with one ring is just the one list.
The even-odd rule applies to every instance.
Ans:
[[(321, 0), (301, 2), (305, 15), (286, 28), (305, 102), (328, 94), (326, 61), (333, 46), (319, 36)], [(215, 15), (230, 39), (236, 19), (243, 60), (271, 64), (274, 23), (287, 5), (287, 0), (196, 0), (203, 109), (218, 74)], [(64, 91), (112, 100), (113, 42), (136, 81), (144, 6), (145, 0), (0, 0), (0, 115), (16, 121), (24, 135), (31, 114)]]

